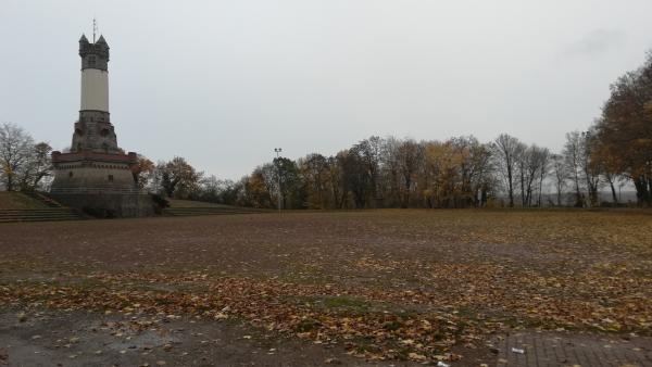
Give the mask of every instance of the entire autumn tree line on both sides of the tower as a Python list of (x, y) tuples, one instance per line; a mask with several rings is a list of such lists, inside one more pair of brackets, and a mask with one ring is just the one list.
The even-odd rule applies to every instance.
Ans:
[[(1, 182), (8, 190), (47, 182), (50, 147), (11, 124), (0, 128)], [(480, 142), (369, 137), (335, 155), (277, 157), (240, 180), (198, 172), (183, 157), (134, 169), (143, 190), (168, 198), (275, 208), (580, 206), (618, 204), (631, 185), (652, 205), (652, 53), (611, 86), (602, 114), (566, 134), (560, 152), (507, 134)], [(600, 192), (611, 193), (609, 202)]]

